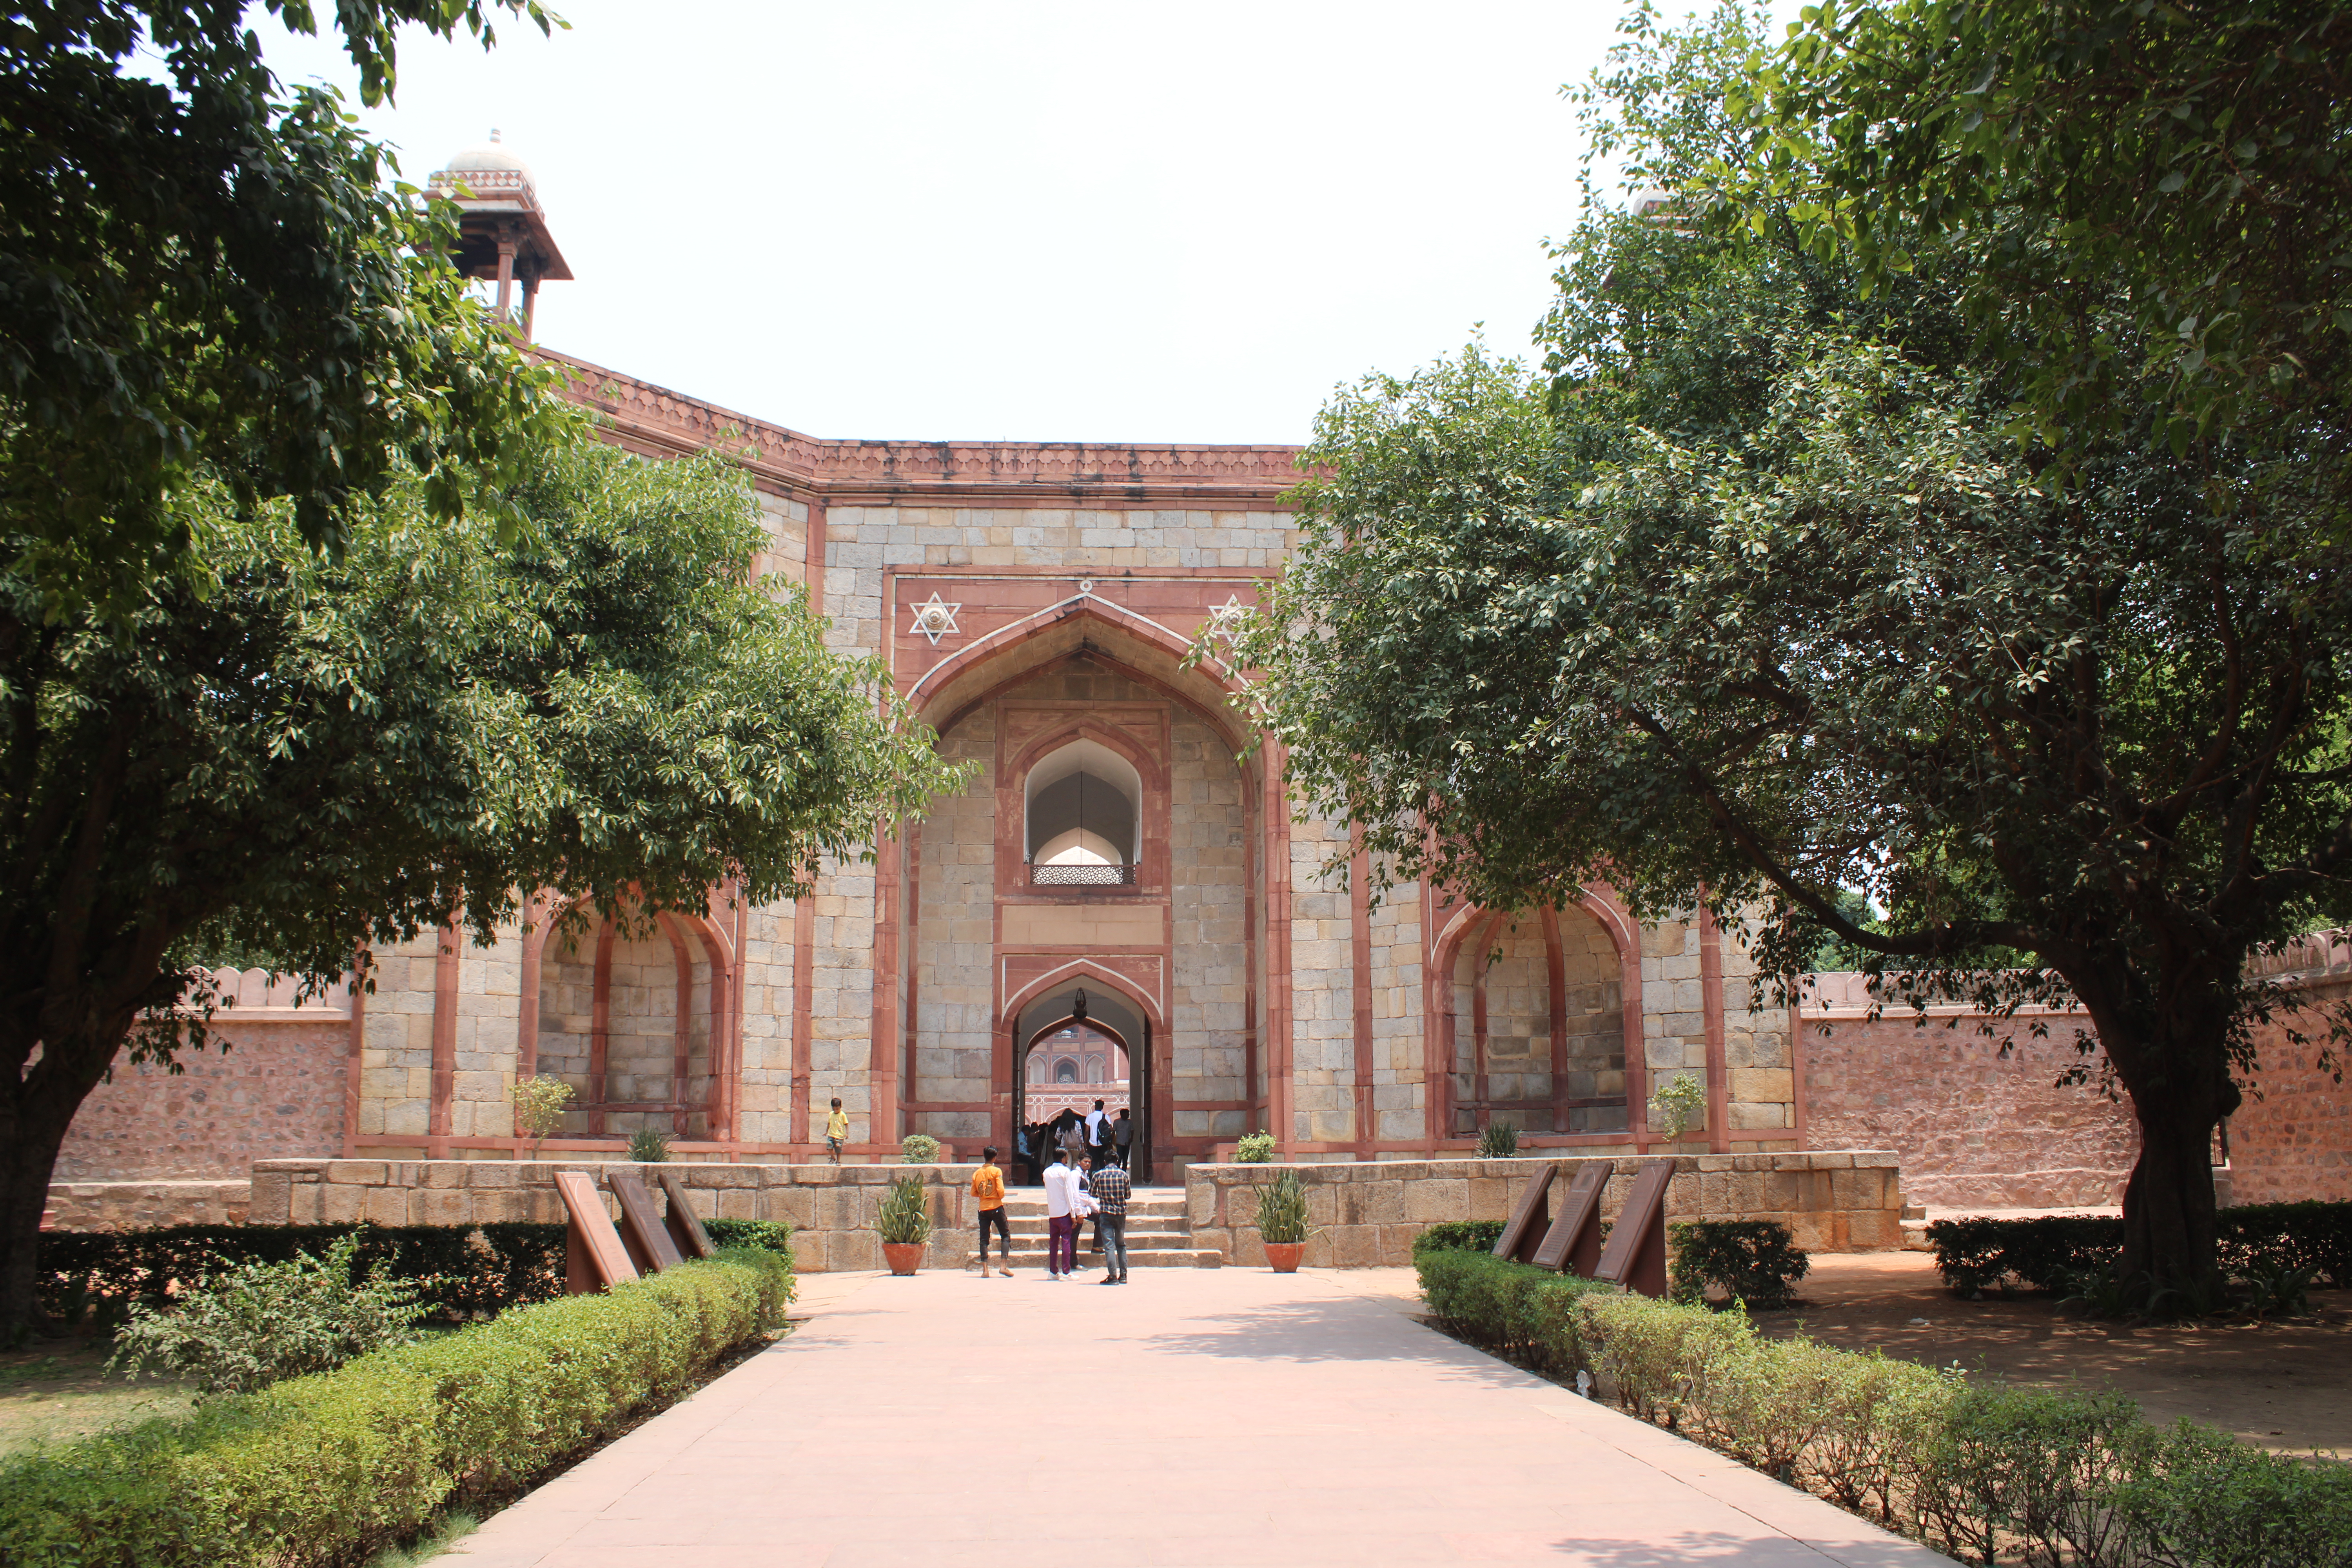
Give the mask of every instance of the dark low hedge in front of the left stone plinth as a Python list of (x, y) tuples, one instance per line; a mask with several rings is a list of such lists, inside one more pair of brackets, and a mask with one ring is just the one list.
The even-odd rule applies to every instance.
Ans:
[[(703, 1229), (720, 1246), (790, 1251), (790, 1225), (703, 1220)], [(463, 1324), (564, 1293), (560, 1222), (158, 1225), (42, 1232), (40, 1298), (42, 1307), (66, 1321), (80, 1321), (89, 1309), (99, 1316), (120, 1316), (134, 1300), (165, 1305), (174, 1284), (193, 1284), (219, 1262), (287, 1262), (294, 1253), (322, 1258), (334, 1241), (353, 1232), (362, 1232), (358, 1258), (362, 1279), (433, 1279), (430, 1321)]]

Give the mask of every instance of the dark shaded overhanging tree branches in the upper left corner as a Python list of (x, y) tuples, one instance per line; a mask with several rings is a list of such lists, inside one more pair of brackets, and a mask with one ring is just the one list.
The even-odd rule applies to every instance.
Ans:
[[(268, 0), (318, 31), (308, 0)], [(289, 498), (313, 543), (402, 465), (499, 477), (543, 411), (445, 263), (447, 205), (388, 181), (341, 99), (282, 89), (245, 0), (0, 14), (0, 534), (45, 604), (129, 607), (188, 548), (188, 484)], [(362, 96), (397, 26), (492, 42), (536, 0), (336, 0)], [(520, 447), (517, 447), (520, 449)], [(456, 470), (452, 470), (454, 475)], [(506, 510), (442, 477), (430, 501)]]

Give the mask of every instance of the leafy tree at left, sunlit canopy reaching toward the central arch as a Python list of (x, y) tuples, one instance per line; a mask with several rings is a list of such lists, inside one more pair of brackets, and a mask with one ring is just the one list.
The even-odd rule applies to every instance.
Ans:
[(0, 1328), (82, 1098), (200, 1032), (200, 943), (322, 980), (449, 919), (487, 940), (541, 886), (788, 898), (953, 780), (797, 588), (746, 581), (739, 473), (579, 416), (513, 456), (510, 541), (416, 477), (332, 557), (289, 503), (195, 489), (129, 604), (42, 616), (0, 571)]

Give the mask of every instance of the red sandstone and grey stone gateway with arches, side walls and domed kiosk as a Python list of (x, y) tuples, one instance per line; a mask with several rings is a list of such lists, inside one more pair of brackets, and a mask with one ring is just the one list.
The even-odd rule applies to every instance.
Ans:
[[(539, 282), (569, 277), (529, 172), (492, 146), (437, 179), (473, 190), (463, 261), (527, 320)], [(908, 1133), (974, 1152), (1058, 1107), (1073, 1081), (1051, 1063), (1077, 1060), (1087, 1103), (1108, 1086), (1134, 1107), (1152, 1180), (1254, 1128), (1296, 1159), (1458, 1154), (1491, 1121), (1541, 1150), (1653, 1150), (1649, 1093), (1693, 1074), (1684, 1150), (1893, 1147), (1924, 1201), (2114, 1199), (2129, 1124), (2051, 1088), (2056, 1039), (2004, 1063), (1844, 997), (1799, 1023), (1762, 1004), (1740, 943), (1703, 917), (1637, 924), (1606, 886), (1522, 917), (1428, 886), (1374, 910), (1362, 875), (1343, 886), (1345, 827), (1294, 820), (1279, 748), (1214, 661), (1185, 661), (1282, 571), (1294, 449), (818, 440), (550, 357), (621, 447), (743, 461), (755, 571), (804, 588), (833, 646), (880, 656), (974, 783), (800, 903), (715, 891), (652, 940), (595, 922), (576, 943), (534, 903), (487, 950), (379, 952), (376, 992), (325, 1006), (254, 976), (238, 1048), (186, 1077), (118, 1070), (61, 1182), (510, 1159), (508, 1086), (532, 1074), (576, 1091), (555, 1154), (656, 1126), (687, 1159), (809, 1159), (835, 1095), (856, 1157)], [(2343, 983), (2352, 950), (2314, 952), (2312, 980)], [(2352, 1197), (2340, 1100), (2314, 1077), (2305, 1131), (2338, 1131), (2270, 1138), (2303, 1150), (2281, 1192)], [(174, 1190), (153, 1218), (207, 1204), (233, 1187)]]

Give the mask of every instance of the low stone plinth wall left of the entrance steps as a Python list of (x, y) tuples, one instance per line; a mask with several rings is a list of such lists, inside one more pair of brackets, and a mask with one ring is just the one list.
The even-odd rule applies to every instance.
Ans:
[(677, 1175), (696, 1194), (706, 1220), (781, 1220), (793, 1227), (800, 1269), (880, 1269), (875, 1215), (889, 1185), (917, 1178), (931, 1194), (929, 1267), (962, 1267), (971, 1255), (971, 1173), (978, 1166), (722, 1166), (595, 1159), (261, 1159), (254, 1161), (254, 1225), (487, 1225), (541, 1220), (560, 1225), (564, 1201), (557, 1171), (586, 1171), (619, 1206), (604, 1182), (609, 1171), (649, 1178)]

